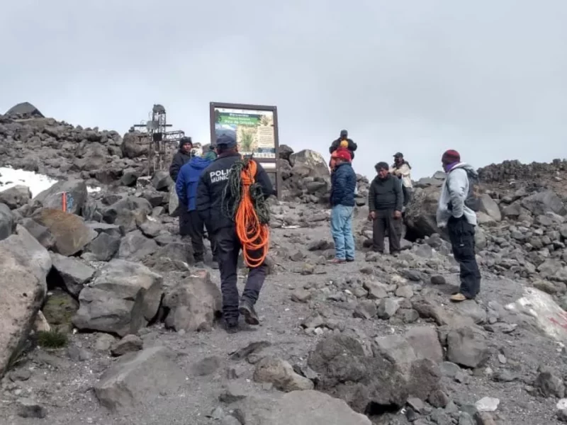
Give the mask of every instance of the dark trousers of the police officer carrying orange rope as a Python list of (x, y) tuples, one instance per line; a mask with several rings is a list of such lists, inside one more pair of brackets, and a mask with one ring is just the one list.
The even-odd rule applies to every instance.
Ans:
[[(242, 245), (237, 237), (235, 227), (222, 227), (214, 234), (220, 269), (220, 290), (223, 293), (223, 316), (225, 319), (238, 319), (239, 295), (237, 288), (238, 255)], [(267, 266), (250, 268), (242, 298), (254, 305), (266, 279)]]

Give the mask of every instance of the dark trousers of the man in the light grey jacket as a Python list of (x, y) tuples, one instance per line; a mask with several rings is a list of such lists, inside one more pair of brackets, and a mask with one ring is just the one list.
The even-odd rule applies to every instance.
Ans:
[(464, 216), (451, 217), (447, 231), (456, 261), (461, 266), (461, 289), (459, 292), (467, 298), (474, 298), (481, 290), (481, 271), (476, 263), (474, 245), (474, 226)]

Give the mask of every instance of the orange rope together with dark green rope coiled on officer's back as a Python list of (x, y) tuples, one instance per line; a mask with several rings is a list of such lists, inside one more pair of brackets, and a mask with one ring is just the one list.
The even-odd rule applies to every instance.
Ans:
[[(257, 162), (252, 159), (244, 159), (240, 164), (235, 164), (232, 177), (236, 178), (240, 170), (240, 184), (234, 184), (234, 189), (240, 189), (240, 196), (235, 196), (234, 220), (236, 223), (236, 234), (242, 244), (242, 254), (246, 265), (250, 268), (261, 266), (268, 255), (269, 225), (266, 218), (266, 207), (264, 215), (258, 214), (259, 203), (264, 203), (261, 188), (254, 181), (258, 169)], [(230, 185), (230, 183), (229, 183)], [(236, 187), (235, 187), (236, 186)], [(263, 206), (263, 205), (262, 205)]]

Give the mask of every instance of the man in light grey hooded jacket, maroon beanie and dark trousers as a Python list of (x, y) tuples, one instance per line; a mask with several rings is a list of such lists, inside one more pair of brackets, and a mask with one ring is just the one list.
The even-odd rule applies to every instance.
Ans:
[(437, 208), (437, 226), (447, 227), (453, 255), (461, 266), (461, 288), (451, 295), (451, 301), (472, 300), (481, 290), (481, 271), (475, 254), (474, 233), (478, 198), (476, 183), (478, 174), (468, 164), (461, 162), (459, 152), (444, 152), (441, 162), (447, 173)]

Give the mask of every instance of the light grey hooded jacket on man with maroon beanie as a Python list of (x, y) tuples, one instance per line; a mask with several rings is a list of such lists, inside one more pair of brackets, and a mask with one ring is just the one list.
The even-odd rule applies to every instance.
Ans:
[[(447, 226), (451, 215), (456, 218), (464, 215), (466, 221), (476, 226), (476, 212), (465, 205), (465, 200), (468, 196), (467, 169), (476, 174), (473, 167), (464, 162), (459, 162), (449, 171), (443, 183), (441, 195), (439, 196), (439, 206), (437, 207), (437, 226), (441, 228)], [(452, 210), (448, 208), (449, 203)]]

